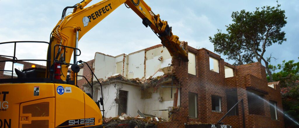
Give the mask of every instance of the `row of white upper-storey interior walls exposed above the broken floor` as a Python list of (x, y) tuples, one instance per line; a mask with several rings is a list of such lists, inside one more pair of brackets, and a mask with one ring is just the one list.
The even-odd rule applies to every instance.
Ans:
[[(97, 75), (98, 78), (106, 80), (108, 77), (115, 74), (117, 71), (116, 63), (123, 61), (123, 55), (124, 54), (112, 57), (109, 55), (95, 53), (95, 75)], [(121, 73), (121, 75), (127, 78), (143, 78), (144, 56), (145, 50), (125, 55), (124, 67), (122, 69), (123, 74)], [(163, 46), (148, 50), (146, 57), (145, 78), (154, 75), (160, 68), (169, 66), (172, 59), (170, 53), (166, 48), (163, 48)], [(162, 57), (161, 61), (158, 60), (159, 57)]]

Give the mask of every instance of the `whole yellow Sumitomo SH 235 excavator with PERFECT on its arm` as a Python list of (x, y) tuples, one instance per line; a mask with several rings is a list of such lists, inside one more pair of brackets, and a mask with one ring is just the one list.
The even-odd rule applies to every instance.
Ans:
[[(103, 98), (94, 102), (92, 95), (86, 94), (77, 86), (77, 73), (80, 70), (78, 64), (85, 63), (77, 61), (77, 56), (81, 54), (77, 46), (85, 33), (122, 4), (140, 16), (142, 24), (150, 27), (161, 39), (171, 56), (188, 60), (188, 54), (179, 37), (173, 35), (167, 21), (161, 20), (160, 15), (153, 13), (143, 0), (103, 0), (86, 7), (90, 1), (83, 0), (74, 6), (65, 7), (60, 21), (50, 34), (50, 42), (0, 43), (14, 44), (14, 55), (0, 55), (11, 59), (0, 62), (47, 62), (45, 69), (32, 67), (20, 71), (12, 66), (12, 70), (0, 70), (11, 72), (11, 78), (0, 78), (0, 128), (104, 127), (103, 107), (100, 110)], [(73, 12), (66, 16), (66, 11), (70, 8)], [(17, 59), (16, 45), (24, 42), (48, 44), (47, 59)], [(72, 55), (74, 62), (70, 63)], [(85, 65), (89, 67), (87, 63)], [(71, 73), (67, 75), (69, 67)], [(14, 73), (17, 76), (14, 76)], [(94, 77), (96, 78), (95, 75)]]

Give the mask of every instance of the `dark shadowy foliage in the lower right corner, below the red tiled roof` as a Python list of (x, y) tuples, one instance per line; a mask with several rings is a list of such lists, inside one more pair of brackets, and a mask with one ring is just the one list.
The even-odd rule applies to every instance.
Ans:
[[(293, 118), (295, 121), (299, 121), (299, 87), (293, 88), (290, 92), (282, 95), (283, 112)], [(298, 127), (289, 118), (284, 118), (286, 128)]]

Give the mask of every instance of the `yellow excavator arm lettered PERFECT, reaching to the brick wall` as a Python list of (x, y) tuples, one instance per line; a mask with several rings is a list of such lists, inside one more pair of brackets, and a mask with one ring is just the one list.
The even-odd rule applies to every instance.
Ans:
[[(161, 43), (167, 48), (171, 56), (180, 57), (185, 61), (188, 60), (188, 54), (181, 46), (179, 37), (173, 35), (167, 21), (161, 20), (159, 14), (155, 15), (143, 0), (103, 0), (84, 8), (90, 1), (84, 0), (63, 10), (61, 20), (51, 33), (51, 48), (48, 49), (51, 51), (51, 54), (48, 55), (48, 60), (51, 60), (51, 62), (47, 64), (47, 71), (53, 65), (54, 60), (69, 63), (73, 54), (73, 49), (61, 46), (54, 48), (55, 45), (77, 47), (78, 41), (85, 33), (124, 3), (142, 19), (142, 23), (146, 27), (150, 27), (155, 34), (158, 34)], [(68, 8), (74, 8), (73, 13), (65, 16)], [(76, 57), (74, 57), (74, 60), (77, 61)], [(67, 70), (68, 65), (62, 64), (62, 74), (66, 74)], [(61, 79), (65, 80), (66, 76), (62, 75)]]

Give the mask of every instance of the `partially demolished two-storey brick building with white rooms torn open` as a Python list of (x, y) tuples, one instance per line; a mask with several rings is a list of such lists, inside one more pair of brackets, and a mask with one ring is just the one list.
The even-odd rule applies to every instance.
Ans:
[[(104, 92), (105, 117), (123, 113), (135, 117), (139, 110), (163, 119), (158, 127), (215, 124), (242, 100), (244, 106), (239, 102), (221, 122), (234, 128), (284, 126), (283, 114), (278, 111), (282, 110), (279, 84), (268, 86), (262, 64), (233, 66), (209, 50), (181, 43), (189, 62), (171, 57), (161, 44), (128, 55), (95, 53), (88, 63), (103, 90), (94, 82), (93, 99), (99, 100), (99, 91)], [(79, 75), (90, 74), (84, 68)], [(79, 79), (79, 87), (91, 92), (85, 79)], [(91, 80), (91, 75), (87, 79)]]

